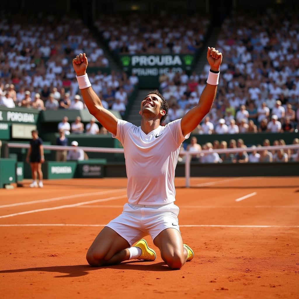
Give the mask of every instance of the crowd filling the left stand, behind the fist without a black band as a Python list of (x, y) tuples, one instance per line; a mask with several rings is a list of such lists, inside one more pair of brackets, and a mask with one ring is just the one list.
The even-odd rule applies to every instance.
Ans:
[[(108, 59), (79, 18), (42, 13), (0, 13), (0, 105), (8, 108), (84, 109), (72, 59), (85, 52), (89, 67)], [(103, 105), (123, 113), (136, 76), (90, 73)]]

